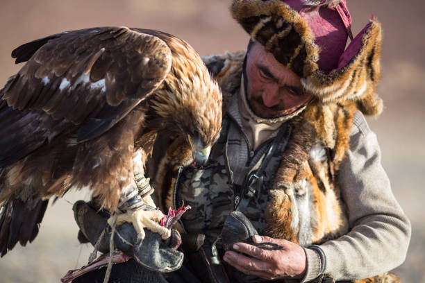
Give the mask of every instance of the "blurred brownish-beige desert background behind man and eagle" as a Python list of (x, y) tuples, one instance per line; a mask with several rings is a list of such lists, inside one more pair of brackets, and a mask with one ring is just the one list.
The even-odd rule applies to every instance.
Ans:
[[(22, 65), (10, 52), (25, 42), (79, 28), (131, 26), (167, 31), (201, 55), (245, 49), (248, 36), (228, 13), (230, 0), (0, 0), (0, 87)], [(383, 166), (412, 222), (403, 282), (425, 282), (425, 3), (422, 0), (348, 0), (356, 35), (372, 15), (383, 25), (383, 77), (378, 93), (385, 110), (369, 125), (378, 135)], [(1, 150), (1, 148), (0, 148)], [(0, 259), (0, 282), (60, 282), (86, 264), (91, 246), (81, 246), (72, 203), (88, 192), (49, 204), (33, 243)]]

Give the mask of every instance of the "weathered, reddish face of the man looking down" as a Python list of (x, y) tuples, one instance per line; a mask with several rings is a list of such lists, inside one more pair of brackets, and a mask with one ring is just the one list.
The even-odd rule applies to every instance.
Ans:
[(301, 87), (301, 78), (258, 42), (249, 51), (246, 74), (249, 105), (259, 117), (290, 114), (313, 97)]

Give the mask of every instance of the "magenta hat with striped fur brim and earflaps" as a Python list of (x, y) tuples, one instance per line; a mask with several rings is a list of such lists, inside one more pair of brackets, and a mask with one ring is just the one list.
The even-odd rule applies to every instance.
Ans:
[(356, 101), (380, 114), (381, 25), (372, 19), (345, 49), (351, 17), (345, 0), (233, 0), (231, 13), (252, 40), (300, 76), (320, 101)]

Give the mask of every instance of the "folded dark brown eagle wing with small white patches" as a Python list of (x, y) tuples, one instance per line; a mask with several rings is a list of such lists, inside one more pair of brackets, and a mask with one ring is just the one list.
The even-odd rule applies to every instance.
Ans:
[(72, 126), (77, 141), (98, 137), (163, 82), (172, 62), (163, 40), (126, 27), (58, 33), (12, 57), (28, 62), (0, 90), (0, 168)]

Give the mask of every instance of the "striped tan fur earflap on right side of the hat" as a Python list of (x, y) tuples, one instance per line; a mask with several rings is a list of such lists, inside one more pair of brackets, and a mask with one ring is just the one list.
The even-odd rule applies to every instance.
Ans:
[(383, 103), (376, 94), (381, 75), (381, 25), (372, 20), (351, 42), (340, 59), (340, 69), (324, 74), (317, 70), (303, 78), (303, 87), (323, 103), (356, 101), (367, 115), (381, 114)]

